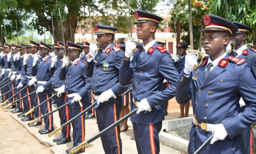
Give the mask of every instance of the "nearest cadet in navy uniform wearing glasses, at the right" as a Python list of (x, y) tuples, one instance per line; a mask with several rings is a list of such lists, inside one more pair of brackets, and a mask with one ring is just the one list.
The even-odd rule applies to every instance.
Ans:
[[(211, 135), (202, 153), (243, 153), (242, 131), (256, 121), (256, 81), (244, 59), (228, 56), (226, 47), (237, 27), (230, 21), (208, 14), (202, 19), (203, 47), (209, 58), (197, 69), (196, 55), (185, 57), (177, 80), (176, 99), (180, 104), (192, 98), (194, 124), (188, 153), (194, 153)], [(188, 95), (188, 93), (190, 93)], [(239, 99), (247, 107), (241, 113)]]

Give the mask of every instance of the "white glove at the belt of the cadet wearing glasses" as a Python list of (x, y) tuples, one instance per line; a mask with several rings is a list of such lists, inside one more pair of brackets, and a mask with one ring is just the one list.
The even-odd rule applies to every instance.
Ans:
[(214, 135), (210, 144), (213, 144), (215, 141), (218, 141), (218, 140), (224, 140), (228, 135), (223, 124), (214, 125), (212, 133), (214, 133)]

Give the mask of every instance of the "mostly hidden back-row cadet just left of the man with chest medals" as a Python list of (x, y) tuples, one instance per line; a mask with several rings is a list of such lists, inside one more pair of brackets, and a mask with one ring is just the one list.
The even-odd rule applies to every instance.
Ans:
[[(82, 52), (82, 56), (81, 56), (81, 60), (85, 61), (87, 63), (87, 57), (89, 55), (89, 46), (90, 46), (90, 43), (84, 41), (81, 46), (84, 48), (83, 49), (83, 52)], [(93, 100), (93, 91), (89, 92), (88, 93), (88, 105), (86, 107), (89, 107), (91, 104), (94, 103), (94, 100)], [(95, 110), (94, 110), (94, 107), (92, 107), (86, 114), (85, 116), (85, 119), (92, 119), (95, 117)]]

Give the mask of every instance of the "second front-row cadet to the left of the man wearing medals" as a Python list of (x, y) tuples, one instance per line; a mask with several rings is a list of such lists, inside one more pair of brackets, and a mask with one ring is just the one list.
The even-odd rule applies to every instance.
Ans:
[[(58, 41), (57, 45), (54, 46), (54, 48), (56, 49), (56, 52), (55, 52), (56, 57), (52, 56), (50, 76), (53, 76), (51, 80), (52, 80), (53, 91), (55, 93), (55, 92), (58, 92), (59, 87), (64, 85), (64, 80), (59, 79), (59, 73), (62, 67), (62, 59), (64, 57), (64, 52), (65, 52), (65, 49), (68, 49), (68, 46)], [(54, 97), (54, 100), (58, 107), (65, 104), (65, 98), (66, 98), (65, 93), (63, 93), (59, 97), (58, 96)], [(63, 125), (64, 123), (70, 120), (68, 106), (65, 106), (64, 108), (58, 110), (58, 112), (59, 112), (59, 118), (60, 118), (60, 125)], [(71, 142), (70, 125), (61, 129), (60, 137), (53, 139), (53, 142), (57, 142), (56, 144), (65, 144), (65, 143)]]

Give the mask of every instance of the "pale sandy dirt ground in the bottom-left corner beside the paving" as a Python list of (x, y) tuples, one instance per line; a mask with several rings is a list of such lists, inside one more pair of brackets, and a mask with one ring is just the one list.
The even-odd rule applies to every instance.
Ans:
[(40, 144), (26, 128), (0, 108), (0, 153), (51, 153), (50, 147)]

